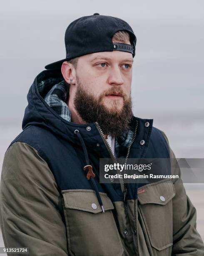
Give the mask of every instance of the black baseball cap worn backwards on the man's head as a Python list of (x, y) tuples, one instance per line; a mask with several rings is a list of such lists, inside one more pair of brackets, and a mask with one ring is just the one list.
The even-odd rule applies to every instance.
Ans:
[[(117, 31), (127, 31), (131, 44), (113, 43)], [(135, 56), (136, 36), (127, 22), (119, 18), (94, 13), (72, 21), (65, 32), (66, 58), (45, 66), (45, 69), (61, 69), (70, 59), (102, 51), (127, 51)]]

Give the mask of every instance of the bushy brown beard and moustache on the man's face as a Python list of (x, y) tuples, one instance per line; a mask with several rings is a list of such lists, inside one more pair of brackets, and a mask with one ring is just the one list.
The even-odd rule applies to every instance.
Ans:
[[(121, 87), (113, 86), (109, 90), (104, 91), (98, 98), (93, 94), (87, 93), (79, 77), (77, 79), (77, 91), (74, 98), (75, 109), (80, 117), (86, 123), (98, 122), (104, 135), (117, 137), (129, 130), (130, 121), (132, 119), (132, 99), (124, 95)], [(123, 107), (119, 109), (120, 100), (110, 100), (112, 107), (107, 108), (102, 100), (106, 95), (119, 93), (123, 97)]]

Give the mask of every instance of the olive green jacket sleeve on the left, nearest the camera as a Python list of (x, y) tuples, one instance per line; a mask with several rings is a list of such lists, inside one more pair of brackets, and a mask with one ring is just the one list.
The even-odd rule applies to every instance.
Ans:
[(35, 148), (15, 142), (7, 149), (0, 185), (5, 247), (28, 247), (30, 256), (67, 256), (60, 192)]

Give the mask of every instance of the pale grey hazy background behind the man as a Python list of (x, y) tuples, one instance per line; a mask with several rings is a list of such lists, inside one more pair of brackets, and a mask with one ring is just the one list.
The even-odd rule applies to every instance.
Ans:
[[(46, 64), (65, 58), (68, 24), (93, 13), (122, 18), (136, 33), (134, 115), (153, 118), (177, 158), (204, 158), (203, 0), (1, 0), (0, 170), (21, 131), (34, 78)], [(185, 186), (204, 238), (204, 184)]]

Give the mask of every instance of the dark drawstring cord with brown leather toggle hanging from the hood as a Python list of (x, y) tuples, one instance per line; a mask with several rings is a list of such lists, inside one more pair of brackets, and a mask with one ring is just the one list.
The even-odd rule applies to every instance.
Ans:
[(85, 146), (85, 143), (84, 143), (84, 140), (79, 132), (79, 130), (75, 130), (75, 134), (77, 135), (77, 137), (79, 138), (81, 144), (82, 144), (82, 148), (83, 148), (83, 151), (84, 151), (84, 155), (85, 155), (85, 161), (86, 161), (86, 165), (84, 166), (84, 170), (88, 169), (88, 173), (87, 173), (87, 179), (90, 180), (91, 184), (92, 184), (92, 187), (96, 193), (96, 196), (97, 196), (97, 199), (98, 199), (98, 202), (100, 204), (100, 207), (102, 209), (103, 212), (104, 211), (104, 207), (103, 207), (103, 203), (102, 203), (102, 199), (101, 199), (101, 196), (99, 194), (99, 191), (98, 191), (98, 188), (97, 188), (97, 185), (96, 185), (96, 182), (94, 180), (94, 177), (95, 177), (95, 174), (93, 173), (92, 171), (92, 166), (90, 165), (90, 162), (89, 162), (89, 156), (88, 156), (88, 153), (87, 153), (87, 148)]

